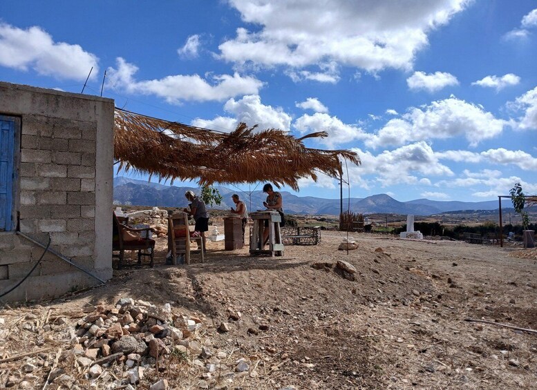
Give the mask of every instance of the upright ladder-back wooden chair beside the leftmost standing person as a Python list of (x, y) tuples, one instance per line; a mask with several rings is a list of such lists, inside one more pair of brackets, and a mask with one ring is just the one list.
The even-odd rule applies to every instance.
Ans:
[[(190, 244), (195, 241), (198, 249), (192, 250)], [(192, 237), (189, 230), (188, 214), (174, 213), (168, 217), (168, 250), (171, 251), (171, 262), (179, 264), (178, 257), (185, 256), (185, 264), (190, 264), (190, 254), (200, 253), (201, 262), (204, 262), (204, 248), (201, 236)]]

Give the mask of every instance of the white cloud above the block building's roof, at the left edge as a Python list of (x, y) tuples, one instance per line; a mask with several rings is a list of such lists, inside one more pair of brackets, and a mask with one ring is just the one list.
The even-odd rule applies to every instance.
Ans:
[(91, 67), (91, 79), (99, 72), (97, 56), (79, 45), (55, 42), (38, 26), (22, 30), (0, 23), (0, 66), (17, 70), (34, 69), (39, 75), (84, 81)]

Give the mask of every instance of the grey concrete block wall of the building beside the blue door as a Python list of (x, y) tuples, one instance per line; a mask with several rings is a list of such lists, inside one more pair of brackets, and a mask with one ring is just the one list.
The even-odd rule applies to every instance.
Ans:
[[(21, 233), (89, 273), (112, 276), (113, 113), (111, 99), (0, 82), (0, 115), (20, 118), (14, 211)], [(0, 231), (0, 293), (24, 277), (43, 248)], [(3, 301), (51, 298), (99, 283), (46, 253)]]

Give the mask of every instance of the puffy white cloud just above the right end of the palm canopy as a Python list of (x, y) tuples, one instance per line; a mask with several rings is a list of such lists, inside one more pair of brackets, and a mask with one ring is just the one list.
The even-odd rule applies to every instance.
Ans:
[(346, 144), (356, 139), (363, 139), (365, 134), (357, 126), (344, 124), (337, 117), (331, 117), (325, 113), (315, 113), (314, 115), (302, 115), (294, 121), (294, 128), (301, 134), (314, 133), (317, 131), (326, 131), (328, 137), (316, 138), (321, 144), (333, 148), (339, 144)]

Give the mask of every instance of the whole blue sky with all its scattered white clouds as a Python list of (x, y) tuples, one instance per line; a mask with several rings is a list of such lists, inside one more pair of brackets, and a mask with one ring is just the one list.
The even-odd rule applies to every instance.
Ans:
[(92, 67), (84, 93), (136, 113), (326, 131), (305, 144), (357, 152), (351, 197), (537, 193), (535, 0), (0, 1), (1, 81), (81, 92)]

